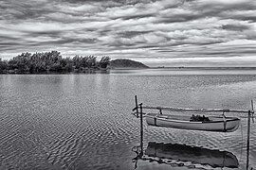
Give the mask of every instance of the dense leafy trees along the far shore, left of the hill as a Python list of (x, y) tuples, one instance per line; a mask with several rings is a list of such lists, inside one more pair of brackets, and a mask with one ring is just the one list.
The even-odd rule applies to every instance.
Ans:
[(9, 60), (0, 58), (0, 73), (86, 72), (104, 70), (110, 64), (109, 57), (100, 60), (95, 56), (63, 58), (58, 51), (46, 53), (22, 53)]

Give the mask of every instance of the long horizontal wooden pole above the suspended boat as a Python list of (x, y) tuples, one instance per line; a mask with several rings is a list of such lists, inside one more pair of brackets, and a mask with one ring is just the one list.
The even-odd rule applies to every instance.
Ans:
[(149, 107), (143, 106), (143, 109), (152, 110), (170, 110), (170, 111), (198, 111), (198, 112), (248, 112), (248, 110), (229, 110), (229, 109), (191, 109), (191, 108), (173, 108), (173, 107)]

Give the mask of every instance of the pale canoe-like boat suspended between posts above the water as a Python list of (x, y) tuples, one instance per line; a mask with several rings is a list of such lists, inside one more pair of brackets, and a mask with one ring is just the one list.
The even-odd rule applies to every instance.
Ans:
[(240, 125), (240, 119), (237, 117), (225, 117), (224, 119), (218, 116), (208, 116), (209, 121), (191, 121), (190, 116), (159, 113), (147, 113), (145, 117), (148, 125), (156, 127), (232, 132)]

